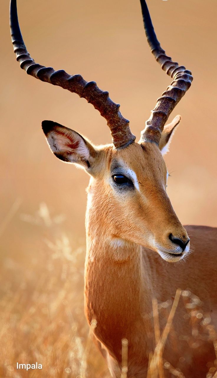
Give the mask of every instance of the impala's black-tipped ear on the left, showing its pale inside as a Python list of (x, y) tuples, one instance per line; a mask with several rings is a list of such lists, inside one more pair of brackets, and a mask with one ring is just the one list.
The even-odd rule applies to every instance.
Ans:
[(97, 152), (83, 136), (53, 121), (43, 121), (42, 129), (57, 158), (67, 163), (80, 164), (85, 169), (91, 167)]

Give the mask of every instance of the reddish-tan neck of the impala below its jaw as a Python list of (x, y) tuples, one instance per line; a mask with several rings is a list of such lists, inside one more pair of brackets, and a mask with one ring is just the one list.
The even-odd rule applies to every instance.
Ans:
[[(144, 270), (146, 262), (141, 246), (109, 234), (109, 225), (103, 222), (101, 214), (89, 197), (85, 309), (88, 321), (96, 319), (98, 322), (96, 336), (117, 356), (122, 338), (127, 338), (130, 345), (136, 345), (144, 326), (148, 335), (149, 320), (146, 325), (144, 323), (146, 315), (151, 313), (152, 289), (149, 267)], [(143, 341), (143, 345), (146, 344)]]

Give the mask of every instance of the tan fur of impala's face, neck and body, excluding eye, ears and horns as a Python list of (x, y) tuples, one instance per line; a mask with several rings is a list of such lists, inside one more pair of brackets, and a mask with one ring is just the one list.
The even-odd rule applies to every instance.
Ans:
[[(124, 161), (136, 172), (140, 191), (121, 197), (112, 191), (113, 160)], [(187, 237), (187, 232), (167, 197), (167, 170), (158, 147), (151, 143), (144, 148), (133, 143), (123, 150), (107, 146), (99, 149), (95, 165), (86, 214), (85, 312), (89, 322), (93, 318), (98, 321), (96, 337), (119, 366), (121, 339), (129, 340), (128, 377), (144, 377), (149, 353), (154, 350), (152, 298), (166, 301), (174, 298), (178, 287), (190, 288), (204, 302), (206, 311), (217, 311), (216, 268), (210, 266), (213, 259), (216, 261), (215, 248), (212, 242), (207, 248), (214, 235), (216, 240), (217, 229), (187, 228), (194, 253), (183, 265), (167, 264), (156, 253), (156, 243), (172, 249), (168, 234)], [(180, 305), (174, 319), (177, 335), (191, 332), (183, 315)], [(161, 330), (162, 322), (161, 319)], [(179, 358), (185, 356), (187, 362), (180, 366), (186, 369), (183, 373), (192, 378), (204, 376), (206, 362), (214, 359), (213, 346), (206, 345), (205, 355), (204, 351), (188, 348), (186, 342), (178, 340), (178, 345), (177, 352), (171, 353), (168, 341), (165, 358), (178, 367)]]

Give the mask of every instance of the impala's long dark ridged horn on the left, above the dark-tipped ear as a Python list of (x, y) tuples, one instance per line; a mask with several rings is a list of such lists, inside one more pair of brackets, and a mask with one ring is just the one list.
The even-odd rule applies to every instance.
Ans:
[(135, 136), (129, 128), (129, 121), (119, 112), (119, 104), (115, 104), (107, 91), (98, 88), (94, 81), (87, 82), (81, 75), (69, 75), (64, 70), (55, 71), (52, 67), (44, 67), (35, 63), (26, 50), (20, 32), (17, 17), (17, 2), (11, 0), (10, 3), (10, 26), (11, 39), (14, 45), (14, 52), (20, 67), (31, 76), (41, 81), (48, 82), (53, 85), (59, 85), (70, 92), (77, 93), (80, 97), (85, 98), (95, 109), (99, 110), (112, 134), (112, 141), (116, 148), (126, 147), (135, 140)]

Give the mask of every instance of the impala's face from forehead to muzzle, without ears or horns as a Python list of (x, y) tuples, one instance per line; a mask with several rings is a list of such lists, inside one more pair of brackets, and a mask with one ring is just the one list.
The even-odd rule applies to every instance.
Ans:
[(104, 178), (111, 234), (153, 249), (164, 260), (182, 259), (189, 251), (189, 237), (167, 196), (168, 174), (158, 146), (133, 143), (111, 156)]

